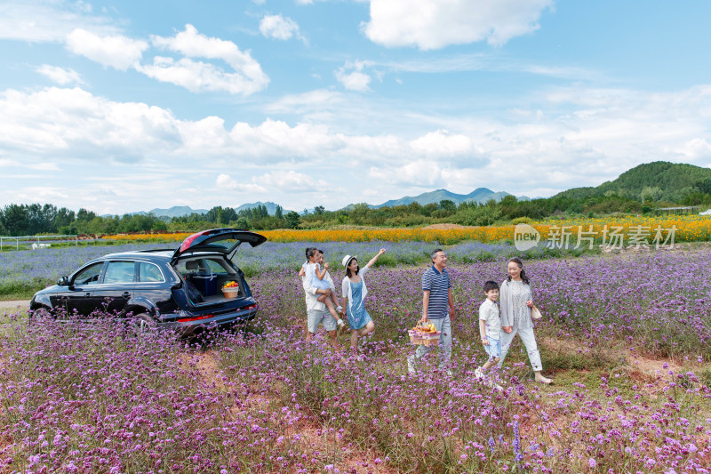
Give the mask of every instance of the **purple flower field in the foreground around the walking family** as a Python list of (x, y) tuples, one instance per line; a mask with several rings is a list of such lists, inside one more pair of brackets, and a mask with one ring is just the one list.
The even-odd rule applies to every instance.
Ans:
[(436, 355), (417, 376), (405, 366), (424, 264), (368, 274), (376, 332), (362, 358), (304, 341), (293, 269), (250, 277), (259, 321), (200, 347), (108, 321), (10, 315), (0, 471), (708, 472), (710, 259), (701, 249), (525, 262), (555, 383), (531, 381), (518, 344), (502, 392), (473, 374), (481, 287), (503, 279), (503, 261), (448, 268), (451, 377)]

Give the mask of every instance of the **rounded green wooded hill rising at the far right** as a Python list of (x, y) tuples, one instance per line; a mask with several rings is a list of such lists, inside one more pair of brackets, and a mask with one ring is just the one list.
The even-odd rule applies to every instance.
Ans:
[(698, 191), (701, 183), (709, 180), (709, 168), (655, 161), (635, 166), (614, 181), (605, 181), (594, 188), (568, 189), (556, 194), (554, 198), (580, 199), (614, 193), (635, 199), (678, 202), (684, 196)]

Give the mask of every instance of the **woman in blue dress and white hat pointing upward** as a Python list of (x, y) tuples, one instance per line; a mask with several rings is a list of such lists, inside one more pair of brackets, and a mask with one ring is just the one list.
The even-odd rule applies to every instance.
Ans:
[(346, 277), (343, 278), (343, 308), (347, 309), (348, 325), (351, 328), (350, 349), (354, 354), (357, 352), (358, 337), (368, 335), (375, 331), (375, 323), (363, 306), (363, 299), (368, 294), (368, 287), (365, 285), (363, 275), (371, 269), (380, 255), (385, 253), (381, 248), (380, 252), (371, 258), (361, 269), (358, 266), (356, 256), (346, 255), (343, 257), (343, 266), (346, 267)]

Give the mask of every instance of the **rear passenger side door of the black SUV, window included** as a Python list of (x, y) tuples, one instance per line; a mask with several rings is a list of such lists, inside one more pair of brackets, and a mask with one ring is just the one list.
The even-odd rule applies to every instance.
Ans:
[(92, 311), (120, 314), (135, 291), (136, 261), (108, 261), (103, 278), (92, 294)]

